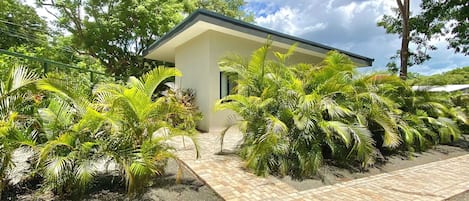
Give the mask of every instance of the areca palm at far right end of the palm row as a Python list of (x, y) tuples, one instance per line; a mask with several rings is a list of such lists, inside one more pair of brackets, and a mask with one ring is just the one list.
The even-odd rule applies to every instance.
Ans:
[(380, 76), (378, 89), (396, 104), (394, 119), (408, 150), (424, 150), (432, 144), (448, 143), (460, 137), (456, 122), (467, 124), (460, 108), (452, 107), (439, 94), (413, 91), (396, 76)]

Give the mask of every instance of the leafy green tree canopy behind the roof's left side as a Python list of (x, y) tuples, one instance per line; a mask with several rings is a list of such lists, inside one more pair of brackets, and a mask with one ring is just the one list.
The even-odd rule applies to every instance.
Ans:
[(140, 55), (156, 39), (197, 8), (248, 20), (242, 0), (38, 0), (72, 34), (73, 47), (98, 59), (119, 77), (140, 75), (156, 66)]

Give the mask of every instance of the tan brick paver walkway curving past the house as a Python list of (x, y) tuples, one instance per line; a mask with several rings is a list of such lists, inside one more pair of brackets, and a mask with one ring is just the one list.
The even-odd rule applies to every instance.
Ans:
[[(192, 144), (175, 140), (178, 156), (225, 200), (444, 200), (469, 190), (469, 155), (382, 173), (330, 186), (298, 191), (274, 177), (257, 177), (234, 154), (219, 155), (218, 134), (200, 134), (201, 158)], [(235, 150), (241, 135), (225, 137), (224, 153)]]

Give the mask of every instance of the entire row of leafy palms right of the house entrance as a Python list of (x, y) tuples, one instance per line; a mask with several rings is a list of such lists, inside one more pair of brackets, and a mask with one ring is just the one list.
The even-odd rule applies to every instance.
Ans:
[(242, 118), (240, 155), (256, 174), (309, 177), (325, 161), (365, 168), (389, 151), (423, 150), (459, 137), (453, 119), (466, 117), (398, 77), (359, 76), (338, 52), (316, 66), (287, 65), (293, 50), (273, 52), (276, 60), (269, 60), (267, 43), (249, 61), (233, 55), (219, 63), (238, 85), (237, 94), (216, 107)]

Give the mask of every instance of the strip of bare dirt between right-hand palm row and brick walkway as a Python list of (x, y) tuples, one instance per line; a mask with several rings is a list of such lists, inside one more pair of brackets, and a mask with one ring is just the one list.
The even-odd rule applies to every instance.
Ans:
[(374, 167), (368, 168), (365, 172), (326, 165), (320, 168), (320, 177), (318, 176), (301, 181), (292, 179), (291, 177), (284, 177), (280, 178), (280, 180), (299, 191), (304, 191), (380, 173), (387, 173), (408, 167), (445, 160), (465, 154), (469, 154), (469, 143), (465, 140), (461, 140), (453, 145), (438, 145), (426, 152), (414, 153), (410, 157), (398, 155), (389, 156), (386, 157), (383, 163), (376, 164)]

